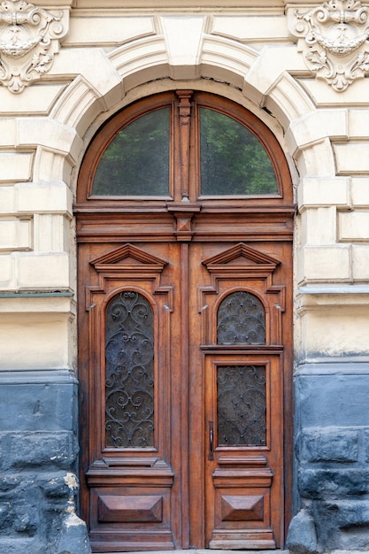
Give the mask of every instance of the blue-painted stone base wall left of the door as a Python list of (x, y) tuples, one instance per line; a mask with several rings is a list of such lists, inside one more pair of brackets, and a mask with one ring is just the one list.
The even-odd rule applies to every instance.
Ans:
[(0, 552), (87, 554), (78, 498), (77, 382), (0, 374)]

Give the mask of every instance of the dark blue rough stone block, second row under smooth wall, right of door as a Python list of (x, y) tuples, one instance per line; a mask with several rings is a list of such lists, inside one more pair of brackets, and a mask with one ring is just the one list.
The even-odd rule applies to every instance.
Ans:
[(340, 498), (369, 492), (369, 468), (304, 469), (299, 489), (305, 498)]

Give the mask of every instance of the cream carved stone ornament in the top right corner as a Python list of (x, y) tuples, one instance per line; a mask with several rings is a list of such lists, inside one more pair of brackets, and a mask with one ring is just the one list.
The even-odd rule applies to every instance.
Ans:
[(309, 12), (288, 12), (306, 65), (338, 92), (369, 72), (368, 19), (369, 7), (360, 0), (329, 0)]

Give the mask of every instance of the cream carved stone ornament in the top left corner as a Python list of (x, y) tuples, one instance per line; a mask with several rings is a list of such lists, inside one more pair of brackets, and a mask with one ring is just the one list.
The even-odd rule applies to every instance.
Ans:
[(49, 12), (25, 0), (0, 3), (0, 81), (13, 93), (47, 73), (68, 30), (67, 10)]

